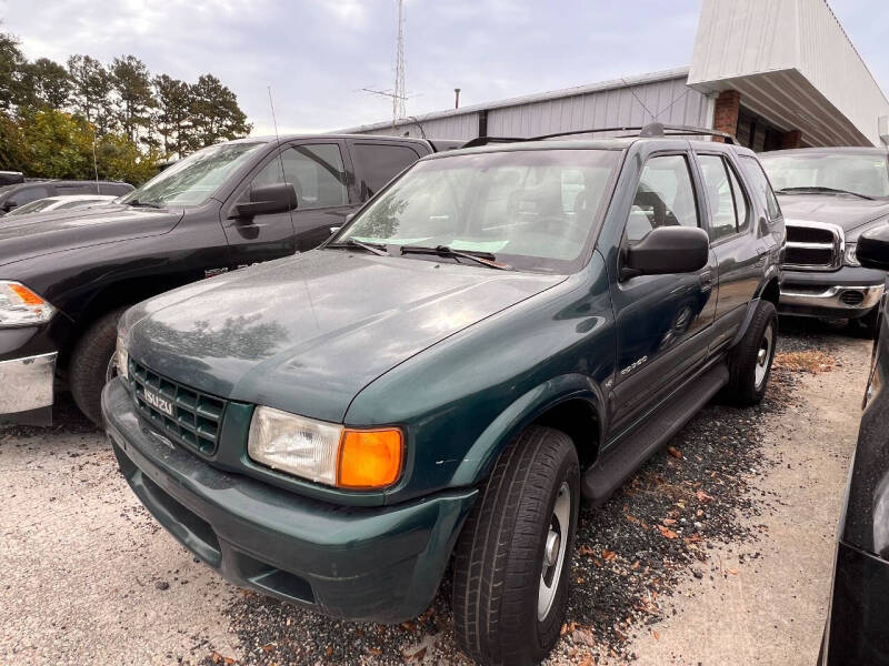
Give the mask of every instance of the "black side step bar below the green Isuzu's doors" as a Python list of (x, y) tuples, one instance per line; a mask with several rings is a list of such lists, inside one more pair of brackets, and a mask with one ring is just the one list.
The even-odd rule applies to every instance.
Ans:
[(728, 384), (725, 363), (680, 386), (657, 413), (616, 442), (590, 467), (580, 481), (583, 498), (593, 506), (605, 504), (627, 478), (663, 446), (703, 405)]

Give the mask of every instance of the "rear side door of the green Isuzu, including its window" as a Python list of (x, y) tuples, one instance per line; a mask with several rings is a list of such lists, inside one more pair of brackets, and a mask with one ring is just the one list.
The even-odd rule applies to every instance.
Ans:
[(716, 254), (719, 297), (711, 352), (728, 344), (762, 281), (765, 259), (757, 243), (752, 198), (728, 150), (697, 152), (710, 246)]

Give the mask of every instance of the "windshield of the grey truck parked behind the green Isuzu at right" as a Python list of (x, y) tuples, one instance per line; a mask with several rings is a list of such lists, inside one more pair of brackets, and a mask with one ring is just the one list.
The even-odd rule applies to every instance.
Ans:
[(760, 155), (776, 192), (793, 188), (828, 188), (865, 196), (889, 196), (886, 155), (812, 152)]

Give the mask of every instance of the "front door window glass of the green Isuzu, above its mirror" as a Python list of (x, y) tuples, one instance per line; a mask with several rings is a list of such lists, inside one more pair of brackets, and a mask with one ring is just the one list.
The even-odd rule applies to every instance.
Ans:
[(699, 226), (695, 186), (683, 155), (651, 158), (642, 169), (627, 220), (627, 240), (642, 240), (658, 226)]

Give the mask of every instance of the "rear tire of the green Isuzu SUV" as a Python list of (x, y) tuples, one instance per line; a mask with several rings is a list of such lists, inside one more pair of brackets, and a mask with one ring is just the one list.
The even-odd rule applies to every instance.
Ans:
[[(740, 406), (759, 404), (769, 384), (777, 342), (778, 312), (770, 301), (760, 301), (747, 333), (729, 353), (729, 383), (722, 390), (722, 396), (728, 402)], [(761, 372), (763, 366), (759, 356), (763, 345), (767, 345), (765, 373)]]

